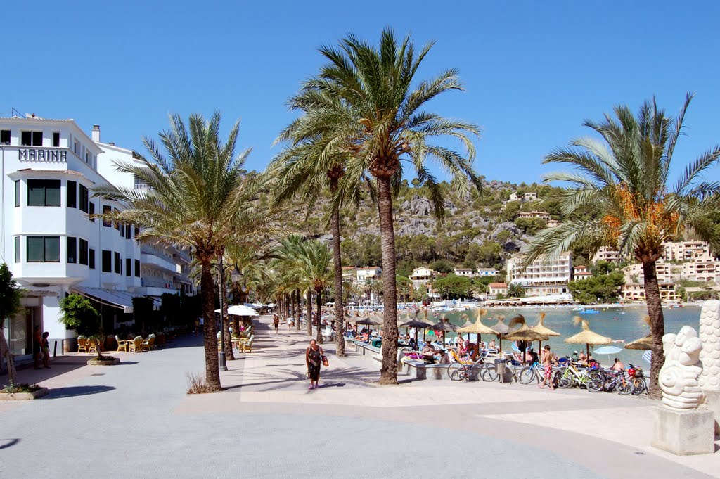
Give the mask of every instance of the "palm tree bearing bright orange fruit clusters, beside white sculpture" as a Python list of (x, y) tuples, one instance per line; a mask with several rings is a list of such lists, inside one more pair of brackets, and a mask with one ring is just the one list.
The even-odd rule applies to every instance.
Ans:
[[(706, 221), (720, 207), (720, 183), (704, 182), (701, 174), (717, 163), (720, 148), (702, 153), (690, 161), (670, 186), (672, 155), (683, 135), (683, 121), (693, 94), (688, 94), (677, 117), (665, 115), (652, 102), (644, 102), (634, 116), (625, 105), (615, 107), (615, 116), (601, 122), (585, 120), (603, 141), (595, 138), (572, 140), (570, 148), (559, 148), (544, 163), (563, 163), (576, 171), (552, 173), (546, 182), (573, 185), (561, 198), (566, 215), (579, 213), (558, 228), (541, 231), (528, 246), (524, 264), (541, 256), (567, 251), (581, 241), (591, 249), (608, 245), (642, 264), (645, 300), (653, 337), (650, 369), (650, 396), (660, 398), (657, 375), (665, 362), (662, 336), (660, 291), (655, 262), (662, 243), (673, 241), (687, 228), (712, 240), (716, 230)], [(596, 218), (581, 213), (590, 209)], [(571, 217), (572, 218), (572, 217)]]

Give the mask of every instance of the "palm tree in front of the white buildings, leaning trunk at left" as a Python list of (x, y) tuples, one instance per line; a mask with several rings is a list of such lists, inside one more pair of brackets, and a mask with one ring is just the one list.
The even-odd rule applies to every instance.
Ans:
[(158, 135), (161, 145), (143, 138), (150, 159), (140, 158), (140, 166), (117, 164), (119, 171), (134, 174), (150, 189), (136, 192), (104, 184), (94, 193), (127, 205), (122, 212), (99, 218), (138, 225), (140, 241), (192, 249), (202, 269), (205, 381), (210, 390), (221, 388), (211, 264), (238, 231), (261, 228), (266, 218), (252, 202), (261, 182), (243, 170), (249, 151), (235, 155), (238, 127), (235, 123), (223, 142), (220, 113), (210, 120), (191, 115), (187, 125), (178, 115), (171, 115), (170, 130)]

